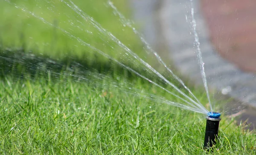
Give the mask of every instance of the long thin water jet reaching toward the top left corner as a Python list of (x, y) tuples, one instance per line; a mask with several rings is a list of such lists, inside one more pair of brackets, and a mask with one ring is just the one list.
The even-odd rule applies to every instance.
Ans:
[[(6, 2), (11, 3), (11, 2), (9, 2), (8, 0), (6, 0)], [(119, 65), (121, 65), (122, 67), (124, 67), (125, 69), (130, 70), (131, 72), (137, 74), (138, 76), (140, 76), (140, 77), (142, 77), (142, 78), (148, 80), (148, 82), (151, 82), (152, 84), (156, 85), (157, 87), (160, 87), (161, 89), (163, 89), (163, 90), (165, 90), (166, 92), (172, 94), (173, 96), (177, 97), (178, 99), (181, 99), (182, 101), (185, 101), (187, 104), (189, 104), (190, 106), (192, 106), (192, 108), (191, 108), (192, 111), (198, 108), (198, 107), (196, 107), (196, 106), (198, 106), (198, 104), (196, 104), (195, 101), (194, 101), (194, 102), (195, 102), (195, 105), (194, 105), (194, 104), (192, 104), (192, 103), (190, 103), (190, 102), (188, 102), (188, 101), (186, 101), (186, 100), (180, 98), (180, 96), (177, 96), (176, 94), (170, 92), (169, 90), (166, 90), (166, 88), (164, 88), (164, 87), (158, 85), (157, 83), (155, 83), (155, 82), (153, 82), (152, 80), (146, 78), (145, 76), (141, 75), (140, 73), (136, 72), (135, 70), (133, 70), (133, 69), (129, 68), (128, 66), (122, 64), (121, 62), (118, 62), (116, 59), (113, 59), (113, 58), (112, 58), (111, 56), (109, 56), (108, 54), (105, 54), (104, 52), (100, 51), (99, 49), (97, 49), (97, 48), (91, 46), (90, 44), (88, 44), (88, 43), (86, 43), (86, 42), (84, 42), (84, 41), (81, 40), (79, 37), (73, 36), (72, 34), (70, 34), (70, 32), (68, 32), (68, 31), (66, 31), (66, 30), (64, 30), (64, 29), (62, 29), (62, 28), (60, 28), (60, 27), (57, 27), (57, 26), (55, 26), (55, 25), (53, 25), (53, 24), (47, 22), (47, 20), (44, 20), (44, 18), (36, 16), (33, 12), (27, 11), (26, 9), (24, 9), (24, 8), (22, 8), (22, 7), (20, 7), (20, 6), (17, 6), (15, 3), (11, 3), (11, 4), (15, 5), (16, 8), (20, 8), (22, 11), (25, 11), (25, 12), (31, 14), (33, 17), (38, 18), (38, 19), (41, 20), (43, 23), (46, 23), (46, 24), (48, 24), (48, 25), (51, 25), (51, 26), (53, 26), (53, 27), (58, 28), (59, 30), (61, 30), (62, 32), (64, 32), (64, 33), (65, 33), (66, 35), (68, 35), (69, 37), (71, 37), (71, 38), (76, 39), (77, 41), (79, 41), (82, 45), (87, 46), (87, 47), (89, 47), (89, 48), (92, 48), (94, 51), (96, 51), (96, 52), (102, 54), (103, 56), (107, 57), (108, 59), (112, 59), (112, 60), (115, 61), (117, 64), (119, 64)], [(112, 34), (111, 34), (111, 35), (112, 35)], [(112, 36), (113, 36), (113, 35), (112, 35)], [(126, 48), (127, 48), (127, 47), (126, 47)], [(149, 65), (149, 66), (150, 66), (150, 65)], [(150, 67), (151, 67), (151, 66), (150, 66)], [(157, 72), (157, 73), (158, 73), (158, 72)], [(167, 80), (167, 81), (168, 81), (168, 80)], [(177, 89), (178, 89), (178, 88), (177, 88)], [(183, 92), (181, 92), (181, 93), (183, 93)], [(183, 93), (183, 94), (184, 94), (184, 93)], [(184, 95), (186, 96), (186, 94), (184, 94)], [(187, 98), (190, 99), (190, 100), (192, 100), (192, 99), (189, 98), (188, 96), (187, 96)], [(192, 100), (192, 101), (193, 101), (193, 100)], [(169, 103), (172, 103), (172, 102), (169, 102)], [(185, 109), (188, 107), (188, 106), (183, 105), (183, 104), (180, 104), (180, 105), (175, 104), (175, 106), (181, 107), (181, 108), (185, 108)], [(183, 106), (184, 106), (184, 107), (183, 107)], [(195, 109), (194, 109), (194, 108), (195, 108)], [(201, 107), (199, 107), (199, 108), (201, 109)], [(204, 113), (208, 113), (208, 110), (206, 110), (205, 108), (204, 108), (204, 109), (201, 109), (201, 110), (202, 110)]]

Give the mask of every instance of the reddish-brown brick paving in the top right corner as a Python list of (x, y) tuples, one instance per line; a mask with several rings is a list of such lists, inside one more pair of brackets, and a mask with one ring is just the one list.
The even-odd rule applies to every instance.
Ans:
[(201, 0), (201, 10), (221, 56), (256, 73), (256, 0)]

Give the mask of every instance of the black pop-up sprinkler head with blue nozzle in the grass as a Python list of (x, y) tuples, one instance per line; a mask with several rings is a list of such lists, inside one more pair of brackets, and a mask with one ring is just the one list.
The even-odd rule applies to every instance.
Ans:
[(207, 113), (205, 136), (204, 136), (204, 148), (210, 148), (216, 144), (218, 138), (218, 127), (221, 121), (221, 114), (216, 112)]

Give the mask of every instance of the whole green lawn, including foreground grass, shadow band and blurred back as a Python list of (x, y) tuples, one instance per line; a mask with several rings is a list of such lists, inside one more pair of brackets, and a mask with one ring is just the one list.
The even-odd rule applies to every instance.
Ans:
[[(123, 56), (125, 51), (108, 34), (58, 0), (10, 1), (0, 2), (0, 154), (209, 154), (203, 148), (204, 115), (166, 104), (163, 98), (181, 101), (78, 41), (157, 81), (141, 62)], [(74, 3), (151, 62), (139, 38), (106, 1)], [(129, 17), (127, 1), (114, 4)], [(192, 92), (207, 103), (202, 89)], [(211, 154), (255, 154), (254, 131), (233, 118), (221, 118)]]

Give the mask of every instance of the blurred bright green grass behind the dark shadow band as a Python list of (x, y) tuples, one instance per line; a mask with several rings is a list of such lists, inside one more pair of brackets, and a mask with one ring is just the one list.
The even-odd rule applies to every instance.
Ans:
[[(0, 1), (0, 14), (2, 14), (0, 16), (0, 39), (3, 48), (22, 47), (25, 51), (33, 51), (34, 54), (40, 56), (47, 55), (52, 59), (69, 56), (87, 61), (95, 60), (95, 54), (100, 54), (84, 45), (83, 42), (86, 42), (111, 57), (127, 59), (127, 56), (123, 56), (124, 49), (111, 40), (108, 34), (95, 28), (90, 20), (84, 19), (88, 15), (132, 51), (145, 56), (139, 37), (133, 33), (131, 28), (119, 21), (119, 17), (113, 14), (110, 6), (106, 7), (107, 0), (83, 2), (73, 0), (85, 14), (84, 17), (59, 0), (10, 0), (10, 2), (9, 4), (5, 0)], [(129, 9), (126, 7), (129, 5), (128, 2), (125, 0), (113, 2), (123, 14), (128, 14)], [(71, 3), (69, 4), (71, 6)], [(81, 39), (82, 42), (77, 39)], [(97, 56), (96, 59), (97, 61), (108, 60), (103, 56)], [(119, 61), (127, 62), (122, 59)]]

